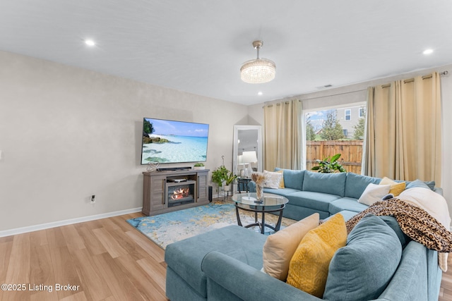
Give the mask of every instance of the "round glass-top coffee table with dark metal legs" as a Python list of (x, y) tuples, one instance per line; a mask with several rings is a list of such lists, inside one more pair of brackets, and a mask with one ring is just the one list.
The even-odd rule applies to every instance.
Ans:
[[(281, 195), (273, 195), (273, 193), (264, 193), (261, 201), (258, 201), (256, 192), (232, 195), (232, 201), (235, 202), (235, 213), (237, 214), (237, 223), (239, 226), (242, 226), (242, 221), (240, 221), (239, 216), (239, 209), (254, 212), (254, 223), (244, 227), (249, 228), (259, 226), (262, 234), (265, 232), (266, 227), (273, 229), (275, 232), (280, 230), (281, 220), (283, 219), (283, 210), (285, 208), (285, 204), (289, 202), (286, 197)], [(270, 212), (279, 212), (278, 222), (274, 227), (266, 223), (266, 213)], [(258, 221), (258, 213), (262, 214), (261, 222)]]

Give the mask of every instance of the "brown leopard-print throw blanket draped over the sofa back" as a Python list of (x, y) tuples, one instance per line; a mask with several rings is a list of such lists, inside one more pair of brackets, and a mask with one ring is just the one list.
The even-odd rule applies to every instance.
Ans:
[[(366, 214), (394, 216), (400, 229), (412, 240), (438, 252), (452, 252), (452, 233), (420, 207), (400, 199), (376, 202), (347, 221), (347, 232), (350, 233)], [(439, 253), (439, 256), (444, 253)], [(444, 264), (444, 260), (439, 258), (439, 267), (446, 271), (447, 260)]]

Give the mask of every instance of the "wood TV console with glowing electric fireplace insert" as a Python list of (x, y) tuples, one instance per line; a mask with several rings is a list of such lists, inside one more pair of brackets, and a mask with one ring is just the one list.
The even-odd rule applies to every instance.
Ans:
[(143, 214), (152, 216), (208, 204), (208, 172), (143, 172)]

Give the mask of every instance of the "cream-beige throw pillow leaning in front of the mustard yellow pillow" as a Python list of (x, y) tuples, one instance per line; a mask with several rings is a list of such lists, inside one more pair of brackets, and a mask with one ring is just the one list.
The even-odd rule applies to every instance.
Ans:
[(285, 281), (290, 259), (308, 231), (319, 226), (319, 214), (315, 213), (297, 223), (268, 236), (263, 245), (263, 271), (280, 281)]

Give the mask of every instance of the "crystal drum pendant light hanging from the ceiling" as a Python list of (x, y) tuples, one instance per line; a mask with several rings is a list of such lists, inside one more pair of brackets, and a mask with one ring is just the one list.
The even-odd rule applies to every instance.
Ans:
[(253, 47), (257, 50), (257, 59), (246, 61), (240, 68), (240, 78), (249, 84), (261, 84), (270, 82), (275, 78), (275, 62), (269, 59), (259, 58), (259, 49), (262, 48), (262, 41), (254, 41)]

